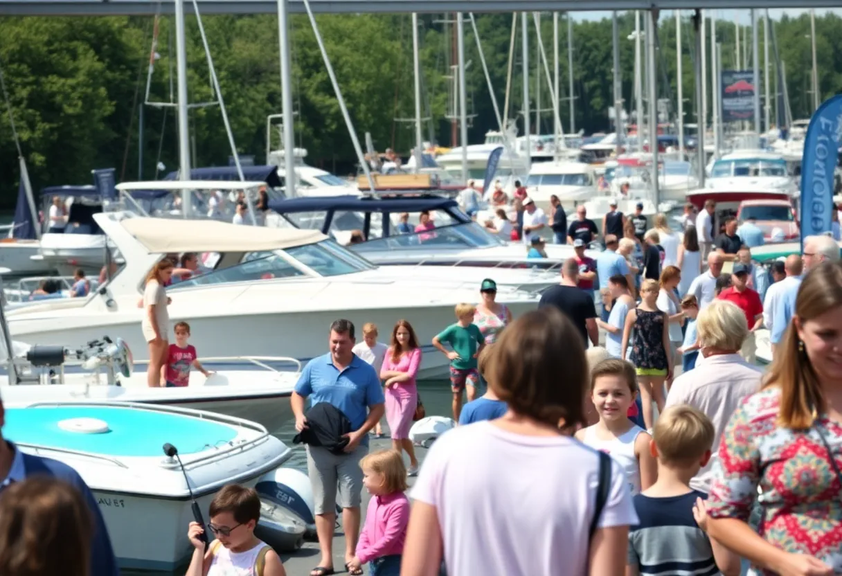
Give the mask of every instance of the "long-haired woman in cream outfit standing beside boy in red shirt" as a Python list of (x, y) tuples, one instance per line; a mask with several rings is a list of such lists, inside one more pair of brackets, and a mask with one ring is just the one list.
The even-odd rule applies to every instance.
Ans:
[(143, 291), (143, 337), (149, 344), (149, 368), (147, 384), (149, 387), (161, 386), (161, 365), (169, 348), (168, 297), (164, 286), (173, 277), (173, 261), (158, 260), (147, 275)]

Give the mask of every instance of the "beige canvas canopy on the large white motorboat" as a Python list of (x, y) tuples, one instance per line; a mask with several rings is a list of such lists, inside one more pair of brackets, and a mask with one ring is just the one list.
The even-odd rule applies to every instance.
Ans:
[(125, 218), (120, 224), (149, 253), (255, 252), (306, 246), (327, 238), (317, 230), (242, 226), (216, 220)]

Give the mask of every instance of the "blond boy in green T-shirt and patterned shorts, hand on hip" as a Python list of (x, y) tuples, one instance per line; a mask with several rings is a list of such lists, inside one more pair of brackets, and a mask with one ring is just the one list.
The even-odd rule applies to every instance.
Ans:
[[(485, 338), (473, 323), (476, 307), (456, 305), (456, 324), (451, 324), (433, 339), (433, 345), (450, 358), (450, 391), (453, 392), (453, 419), (459, 422), (462, 411), (462, 391), (468, 387), (468, 402), (477, 397), (477, 356), (485, 347)], [(450, 344), (448, 352), (442, 343)]]

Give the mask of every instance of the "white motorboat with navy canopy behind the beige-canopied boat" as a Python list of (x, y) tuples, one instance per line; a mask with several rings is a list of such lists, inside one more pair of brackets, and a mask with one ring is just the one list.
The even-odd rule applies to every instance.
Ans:
[[(293, 198), (270, 202), (269, 207), (275, 214), (267, 216), (267, 226), (286, 222), (321, 230), (365, 259), (389, 268), (392, 274), (396, 270), (407, 274), (404, 264), (423, 264), (424, 270), (417, 274), (428, 278), (447, 280), (459, 275), (474, 281), (478, 276), (491, 276), (498, 285), (535, 291), (557, 284), (559, 264), (575, 255), (572, 246), (547, 244), (546, 259), (527, 258), (529, 247), (524, 243), (505, 241), (478, 223), (490, 217), (489, 211), (480, 211), (475, 222), (459, 209), (456, 200), (435, 195)], [(434, 222), (432, 231), (398, 231), (402, 214), (408, 215), (414, 230), (423, 211)], [(353, 231), (361, 232), (365, 242), (350, 243)], [(393, 268), (396, 264), (397, 269)], [(452, 266), (459, 267), (458, 272), (450, 269)], [(541, 274), (540, 269), (553, 269), (552, 275)]]

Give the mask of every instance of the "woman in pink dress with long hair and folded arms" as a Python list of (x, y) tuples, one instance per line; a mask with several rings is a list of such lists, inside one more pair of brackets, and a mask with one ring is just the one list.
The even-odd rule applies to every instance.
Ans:
[(392, 329), (392, 344), (386, 351), (380, 377), (386, 391), (386, 422), (392, 432), (392, 448), (409, 456), (409, 476), (418, 474), (418, 460), (413, 443), (409, 440), (409, 427), (418, 406), (415, 376), (421, 365), (421, 348), (413, 327), (406, 320), (398, 320)]

